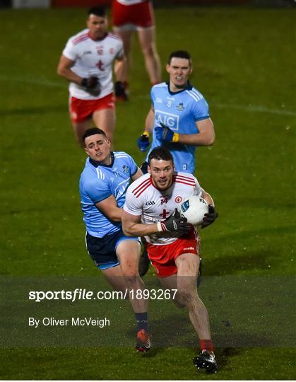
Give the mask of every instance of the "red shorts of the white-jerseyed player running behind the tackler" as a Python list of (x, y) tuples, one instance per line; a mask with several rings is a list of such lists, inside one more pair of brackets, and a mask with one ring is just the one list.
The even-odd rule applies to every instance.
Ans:
[(75, 97), (70, 97), (69, 100), (69, 112), (73, 123), (83, 122), (91, 118), (93, 112), (103, 109), (114, 109), (113, 93), (98, 100), (80, 100)]

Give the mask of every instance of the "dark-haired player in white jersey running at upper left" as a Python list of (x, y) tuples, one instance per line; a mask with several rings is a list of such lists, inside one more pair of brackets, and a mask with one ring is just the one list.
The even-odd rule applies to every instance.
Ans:
[[(70, 81), (69, 113), (78, 142), (93, 122), (112, 140), (115, 110), (112, 65), (117, 63), (116, 77), (122, 83), (126, 59), (122, 40), (107, 33), (104, 8), (88, 11), (87, 29), (69, 38), (57, 72)], [(118, 87), (118, 86), (117, 86)], [(122, 93), (124, 96), (122, 85)]]

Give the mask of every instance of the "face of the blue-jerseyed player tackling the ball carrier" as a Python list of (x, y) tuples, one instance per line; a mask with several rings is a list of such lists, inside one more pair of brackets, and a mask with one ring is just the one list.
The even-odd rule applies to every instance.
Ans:
[(86, 137), (85, 151), (93, 161), (111, 164), (110, 142), (102, 134), (94, 134), (90, 135), (90, 137)]

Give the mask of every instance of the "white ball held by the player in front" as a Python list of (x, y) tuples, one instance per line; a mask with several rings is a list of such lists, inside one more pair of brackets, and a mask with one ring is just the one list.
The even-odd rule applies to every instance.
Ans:
[(208, 203), (202, 197), (193, 195), (181, 204), (179, 212), (192, 226), (200, 226), (205, 214), (208, 214)]

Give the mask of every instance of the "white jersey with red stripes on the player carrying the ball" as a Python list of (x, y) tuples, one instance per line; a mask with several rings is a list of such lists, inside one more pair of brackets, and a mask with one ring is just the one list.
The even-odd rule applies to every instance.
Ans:
[[(141, 216), (142, 224), (155, 224), (167, 219), (175, 208), (192, 195), (201, 194), (201, 186), (194, 175), (174, 173), (172, 185), (167, 190), (160, 191), (153, 185), (150, 174), (145, 174), (127, 189), (124, 211)], [(173, 243), (181, 235), (177, 232), (159, 232), (145, 238), (148, 243), (166, 245)]]

